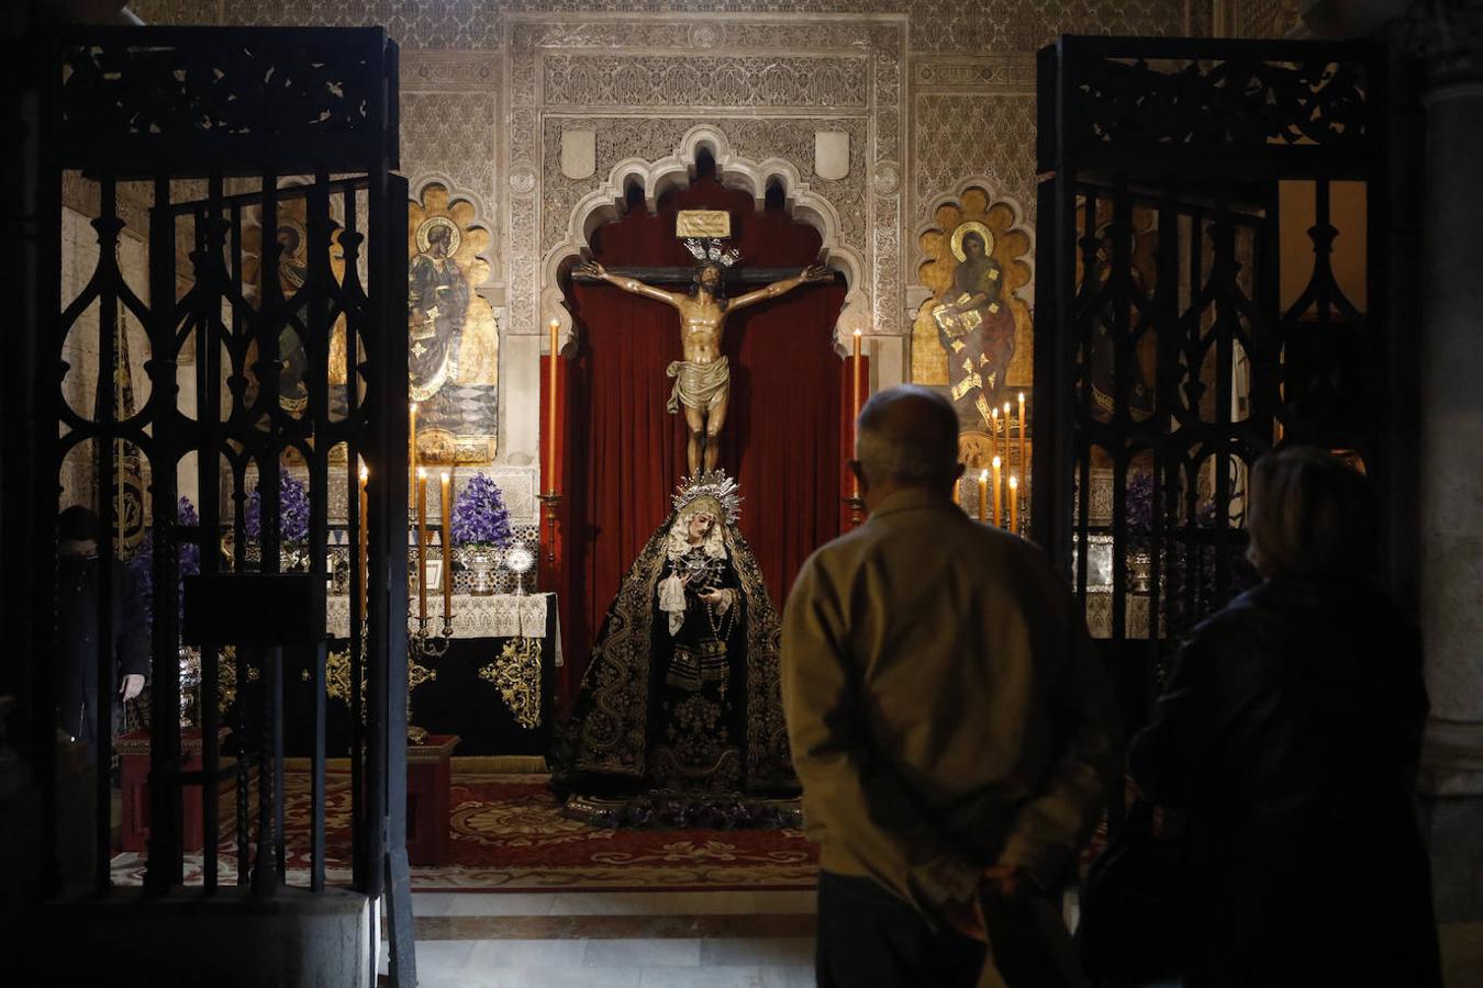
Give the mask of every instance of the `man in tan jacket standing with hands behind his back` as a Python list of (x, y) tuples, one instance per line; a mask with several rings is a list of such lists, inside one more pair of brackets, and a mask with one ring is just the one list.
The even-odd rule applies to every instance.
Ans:
[(1121, 769), (1086, 621), (1043, 551), (952, 504), (946, 398), (881, 391), (857, 434), (869, 520), (783, 616), (819, 985), (1078, 984), (1050, 896)]

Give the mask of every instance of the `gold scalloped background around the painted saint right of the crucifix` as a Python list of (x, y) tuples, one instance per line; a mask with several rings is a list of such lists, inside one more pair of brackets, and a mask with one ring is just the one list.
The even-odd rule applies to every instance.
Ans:
[(1010, 360), (1005, 387), (1029, 387), (1035, 364), (1034, 333), (1029, 305), (1019, 298), (1019, 289), (1029, 284), (1029, 234), (1019, 227), (1019, 218), (1008, 203), (989, 201), (982, 188), (968, 188), (958, 203), (940, 206), (933, 216), (936, 227), (921, 236), (921, 249), (930, 261), (916, 271), (916, 280), (931, 289), (933, 298), (922, 302), (912, 323), (912, 381), (915, 384), (946, 385), (948, 353), (937, 339), (937, 324), (931, 310), (952, 286), (958, 259), (952, 253), (952, 234), (964, 224), (983, 224), (994, 234), (989, 256), (1004, 270), (1004, 298), (1014, 314), (1014, 357)]

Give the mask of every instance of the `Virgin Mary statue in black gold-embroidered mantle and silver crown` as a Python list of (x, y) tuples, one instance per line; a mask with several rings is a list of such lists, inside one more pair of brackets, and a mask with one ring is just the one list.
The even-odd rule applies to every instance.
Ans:
[[(682, 483), (618, 587), (592, 649), (552, 787), (605, 822), (789, 822), (796, 795), (777, 610), (737, 530), (736, 481)], [(761, 812), (759, 812), (761, 810)]]

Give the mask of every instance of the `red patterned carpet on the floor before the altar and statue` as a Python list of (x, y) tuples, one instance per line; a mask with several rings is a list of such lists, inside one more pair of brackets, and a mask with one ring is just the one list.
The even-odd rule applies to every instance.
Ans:
[[(308, 880), (308, 778), (292, 773), (289, 881)], [(418, 892), (592, 889), (813, 887), (817, 855), (796, 830), (605, 830), (567, 819), (544, 775), (454, 775), (452, 862), (412, 868)], [(228, 807), (222, 816), (230, 819)], [(331, 775), (325, 794), (326, 877), (350, 880), (350, 779)], [(141, 855), (114, 858), (114, 881), (139, 884)], [(221, 844), (221, 875), (236, 874), (236, 843)], [(187, 856), (187, 883), (200, 881), (200, 855)]]

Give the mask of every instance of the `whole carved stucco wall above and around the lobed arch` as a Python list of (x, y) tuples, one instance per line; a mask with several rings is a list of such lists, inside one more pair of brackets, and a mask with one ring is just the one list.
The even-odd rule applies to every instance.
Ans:
[[(786, 161), (862, 259), (876, 385), (908, 373), (931, 203), (982, 179), (1034, 225), (1034, 52), (1060, 33), (1255, 27), (1286, 0), (139, 0), (160, 24), (383, 24), (402, 46), (402, 170), (443, 179), (495, 227), (482, 293), (501, 311), (500, 459), (538, 449), (543, 281), (572, 210), (624, 160), (678, 153), (696, 126), (750, 161)], [(1252, 10), (1243, 16), (1244, 6)], [(1219, 9), (1223, 16), (1216, 18)], [(1218, 22), (1219, 21), (1219, 22)], [(1207, 27), (1210, 25), (1210, 27)], [(590, 129), (590, 178), (561, 135)], [(813, 172), (814, 132), (850, 135), (850, 172)], [(549, 287), (549, 286), (547, 286)], [(549, 299), (549, 293), (547, 293)], [(896, 350), (891, 350), (891, 348)], [(525, 406), (531, 406), (528, 410)], [(526, 413), (528, 412), (528, 413)]]

